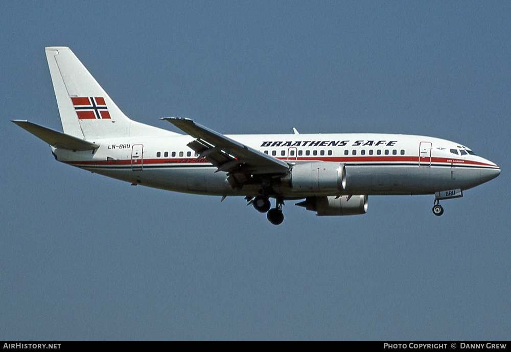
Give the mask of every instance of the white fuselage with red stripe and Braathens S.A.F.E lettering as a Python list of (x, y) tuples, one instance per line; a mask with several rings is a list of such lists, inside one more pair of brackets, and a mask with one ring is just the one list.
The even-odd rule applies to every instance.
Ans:
[[(403, 134), (228, 135), (286, 162), (337, 162), (345, 166), (346, 186), (334, 195), (415, 195), (466, 190), (500, 173), (495, 163), (449, 140)], [(219, 196), (257, 195), (261, 185), (233, 188), (226, 172), (187, 144), (189, 135), (92, 140), (94, 151), (53, 149), (59, 161), (91, 172), (169, 191)], [(333, 195), (293, 189), (281, 177), (273, 190), (283, 198)]]

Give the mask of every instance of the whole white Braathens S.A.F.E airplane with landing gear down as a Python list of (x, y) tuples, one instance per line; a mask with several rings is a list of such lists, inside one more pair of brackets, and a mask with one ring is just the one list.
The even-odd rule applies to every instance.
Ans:
[[(16, 125), (42, 139), (56, 160), (92, 173), (157, 189), (243, 196), (275, 225), (284, 201), (318, 216), (365, 214), (369, 195), (463, 191), (500, 174), (471, 149), (434, 137), (323, 133), (223, 135), (187, 118), (161, 118), (185, 134), (127, 118), (67, 47), (45, 48), (63, 132), (26, 120)], [(271, 207), (270, 199), (275, 206)]]

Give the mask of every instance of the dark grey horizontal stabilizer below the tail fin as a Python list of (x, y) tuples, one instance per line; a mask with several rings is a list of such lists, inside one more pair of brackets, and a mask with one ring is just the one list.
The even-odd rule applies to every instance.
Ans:
[(29, 131), (36, 137), (44, 140), (55, 148), (67, 150), (93, 150), (99, 148), (94, 143), (87, 142), (86, 140), (70, 136), (68, 134), (52, 130), (47, 127), (39, 126), (28, 122), (27, 120), (11, 120), (19, 127)]

